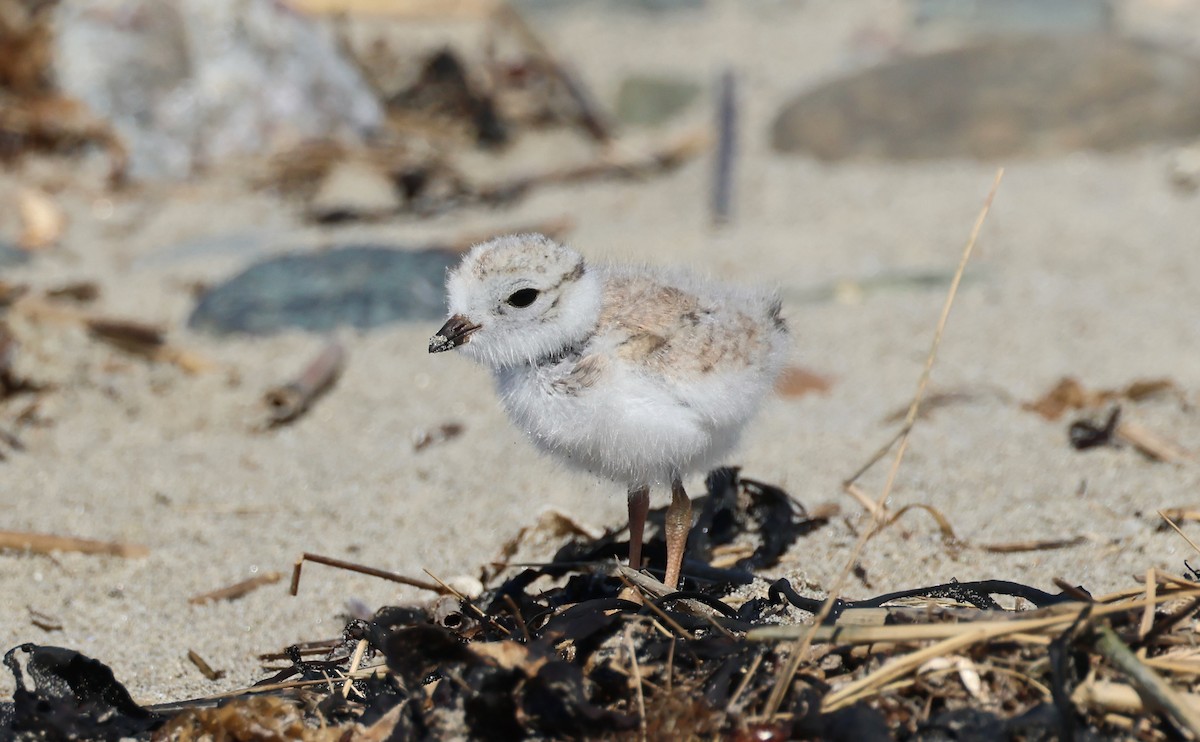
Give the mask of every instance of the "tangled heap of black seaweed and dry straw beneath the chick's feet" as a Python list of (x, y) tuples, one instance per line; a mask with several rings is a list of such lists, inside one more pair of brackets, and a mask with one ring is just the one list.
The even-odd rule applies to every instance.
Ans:
[[(734, 539), (764, 538), (751, 513), (764, 503), (786, 504), (790, 517), (803, 520), (803, 508), (782, 490), (742, 480), (736, 469), (714, 472), (708, 485), (702, 499), (710, 503), (703, 503), (691, 534), (707, 539), (702, 550), (730, 532)], [(612, 534), (592, 539), (558, 522), (565, 543), (552, 561), (491, 573), (475, 596), (439, 590), (427, 602), (350, 620), (340, 636), (264, 654), (284, 664), (268, 669), (253, 687), (211, 699), (140, 708), (98, 662), (23, 645), (8, 657), (22, 653), (35, 664), (55, 658), (54, 677), (76, 680), (86, 670), (97, 682), (59, 682), (60, 700), (47, 704), (38, 699), (48, 690), (23, 695), (26, 670), (6, 658), (22, 689), (13, 705), (16, 728), (53, 725), (100, 736), (97, 725), (132, 719), (145, 724), (133, 734), (155, 730), (166, 737), (202, 729), (214, 735), (274, 729), (329, 740), (367, 732), (577, 737), (644, 729), (665, 737), (700, 730), (709, 737), (754, 731), (756, 738), (776, 732), (882, 738), (971, 729), (1042, 738), (1063, 725), (1097, 737), (1121, 734), (1122, 722), (1112, 718), (1120, 708), (1150, 714), (1154, 729), (1190, 729), (1189, 712), (1178, 702), (1195, 698), (1195, 663), (1190, 650), (1180, 650), (1190, 646), (1188, 636), (1200, 626), (1200, 585), (1187, 579), (1150, 570), (1145, 584), (1110, 596), (1062, 581), (1057, 593), (1010, 580), (950, 581), (842, 598), (823, 612), (820, 596), (803, 594), (786, 579), (746, 593), (728, 575), (714, 579), (719, 572), (695, 569), (697, 555), (686, 562), (683, 590), (672, 591), (601, 556), (617, 552)], [(584, 553), (596, 556), (581, 558)], [(799, 620), (797, 611), (820, 621)], [(811, 638), (799, 675), (804, 682), (784, 690), (780, 713), (762, 713), (779, 668), (803, 636)], [(95, 688), (108, 689), (106, 704), (86, 702)], [(1141, 700), (1128, 700), (1123, 688), (1136, 688)], [(1056, 698), (1080, 702), (1056, 704)]]

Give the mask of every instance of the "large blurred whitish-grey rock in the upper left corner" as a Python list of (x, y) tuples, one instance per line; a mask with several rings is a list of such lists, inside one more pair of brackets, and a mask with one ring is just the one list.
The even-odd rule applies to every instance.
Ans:
[(112, 122), (133, 176), (383, 124), (330, 35), (281, 2), (64, 0), (56, 28), (62, 91)]

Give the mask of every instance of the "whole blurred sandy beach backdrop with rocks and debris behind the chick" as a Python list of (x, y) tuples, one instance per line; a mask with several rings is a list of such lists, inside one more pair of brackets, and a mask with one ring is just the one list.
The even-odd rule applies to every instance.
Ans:
[[(0, 648), (209, 693), (407, 593), (314, 570), (305, 602), (188, 597), (302, 551), (478, 576), (546, 507), (623, 525), (482, 370), (426, 353), (446, 267), (512, 231), (778, 286), (793, 364), (731, 463), (851, 523), (841, 481), (912, 394), (998, 166), (953, 409), (896, 496), (967, 539), (1084, 541), (976, 564), (914, 525), (872, 546), (876, 592), (1177, 568), (1145, 513), (1195, 467), (1085, 459), (1022, 403), (1152, 379), (1133, 413), (1200, 448), (1200, 0), (0, 0), (0, 529), (132, 549), (0, 553)], [(853, 538), (780, 574), (820, 594)]]

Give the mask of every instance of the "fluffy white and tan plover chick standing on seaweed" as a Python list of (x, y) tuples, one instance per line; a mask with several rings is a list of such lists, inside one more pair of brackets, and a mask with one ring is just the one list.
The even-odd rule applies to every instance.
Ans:
[(683, 271), (589, 265), (540, 234), (476, 245), (446, 281), (430, 353), (487, 366), (512, 421), (542, 450), (629, 486), (641, 567), (652, 486), (671, 486), (665, 582), (691, 528), (682, 478), (716, 463), (770, 390), (787, 329), (770, 292)]

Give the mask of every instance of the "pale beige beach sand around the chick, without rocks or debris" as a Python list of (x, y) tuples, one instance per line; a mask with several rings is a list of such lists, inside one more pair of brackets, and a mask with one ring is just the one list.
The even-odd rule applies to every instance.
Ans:
[[(0, 528), (128, 540), (150, 556), (0, 556), (0, 647), (78, 648), (110, 664), (145, 702), (204, 695), (258, 680), (259, 652), (336, 635), (347, 599), (378, 606), (416, 593), (310, 567), (299, 599), (284, 582), (232, 603), (193, 606), (190, 596), (288, 572), (302, 551), (414, 576), (424, 576), (421, 568), (472, 574), (548, 507), (595, 525), (622, 522), (619, 486), (539, 457), (502, 417), (482, 370), (426, 353), (432, 324), (347, 333), (349, 365), (336, 389), (298, 424), (253, 432), (263, 390), (294, 373), (319, 340), (188, 334), (191, 300), (181, 287), (227, 275), (239, 262), (162, 253), (184, 240), (263, 228), (302, 244), (371, 237), (419, 245), (565, 214), (577, 220), (569, 241), (589, 256), (686, 262), (778, 282), (792, 298), (797, 363), (834, 387), (827, 396), (772, 401), (732, 463), (806, 504), (836, 502), (851, 516), (800, 541), (776, 570), (816, 593), (828, 590), (856, 539), (850, 523), (862, 526), (840, 483), (892, 435), (882, 419), (914, 390), (944, 292), (878, 291), (860, 304), (796, 299), (881, 273), (949, 274), (995, 166), (830, 167), (774, 157), (766, 131), (778, 106), (834, 74), (857, 31), (896, 28), (902, 14), (882, 1), (754, 6), (668, 16), (670, 31), (632, 16), (564, 14), (552, 28), (557, 47), (605, 100), (632, 71), (708, 80), (725, 64), (737, 67), (745, 116), (737, 221), (720, 232), (708, 227), (707, 160), (644, 184), (539, 191), (506, 213), (325, 233), (304, 227), (295, 204), (234, 178), (118, 196), (107, 220), (83, 186), (68, 186), (65, 246), (6, 280), (38, 287), (97, 280), (97, 311), (175, 328), (174, 341), (227, 371), (190, 377), (79, 337), (55, 341), (64, 354), (86, 351), (88, 360), (47, 396), (49, 424), (25, 432), (28, 450), (0, 462)], [(696, 121), (707, 118), (703, 106), (694, 112)], [(1062, 576), (1103, 592), (1150, 567), (1182, 572), (1195, 556), (1156, 529), (1154, 510), (1194, 504), (1200, 467), (1154, 463), (1128, 448), (1076, 453), (1066, 421), (1020, 408), (1064, 375), (1094, 387), (1170, 377), (1190, 407), (1164, 399), (1127, 413), (1200, 449), (1200, 197), (1170, 189), (1169, 158), (1169, 148), (1152, 148), (1006, 163), (932, 384), (980, 397), (918, 426), (889, 503), (934, 505), (973, 543), (1075, 535), (1086, 543), (955, 556), (929, 517), (911, 513), (870, 544), (863, 566), (871, 586), (854, 581), (848, 596), (954, 578), (1054, 590), (1052, 578)], [(461, 437), (413, 451), (414, 431), (451, 420), (466, 426)], [(878, 491), (884, 469), (865, 479), (869, 491)], [(692, 486), (698, 492), (698, 480)], [(658, 493), (655, 504), (664, 503)], [(36, 628), (29, 609), (64, 629)], [(226, 670), (224, 680), (202, 677), (188, 650)], [(11, 689), (11, 678), (0, 678), (0, 693)]]

